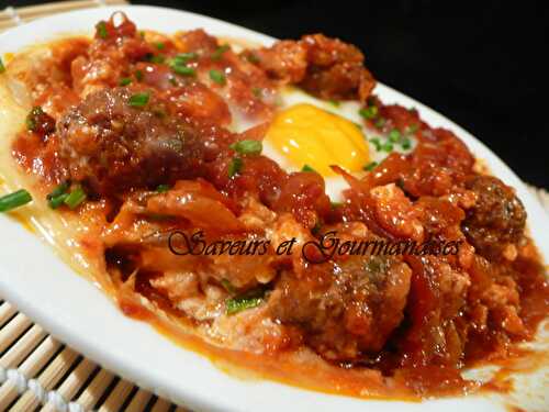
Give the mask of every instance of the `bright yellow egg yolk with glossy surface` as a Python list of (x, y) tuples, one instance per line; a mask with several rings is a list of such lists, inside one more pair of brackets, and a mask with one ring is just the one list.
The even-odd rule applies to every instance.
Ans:
[(274, 116), (266, 140), (295, 167), (311, 166), (335, 176), (330, 165), (359, 171), (368, 164), (368, 146), (357, 125), (312, 104), (301, 103)]

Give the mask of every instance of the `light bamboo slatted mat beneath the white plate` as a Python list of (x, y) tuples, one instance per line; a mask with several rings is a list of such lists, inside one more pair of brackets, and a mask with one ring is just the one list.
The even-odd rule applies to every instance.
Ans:
[[(44, 15), (124, 0), (64, 1), (0, 12), (0, 32)], [(529, 187), (549, 213), (549, 193)], [(1, 411), (186, 411), (116, 377), (53, 338), (0, 297)]]

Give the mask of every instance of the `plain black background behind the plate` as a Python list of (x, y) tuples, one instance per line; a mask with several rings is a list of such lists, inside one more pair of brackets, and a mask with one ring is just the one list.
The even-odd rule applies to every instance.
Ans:
[(279, 38), (323, 32), (354, 43), (380, 81), (470, 131), (525, 181), (549, 188), (547, 2), (132, 2), (194, 11)]

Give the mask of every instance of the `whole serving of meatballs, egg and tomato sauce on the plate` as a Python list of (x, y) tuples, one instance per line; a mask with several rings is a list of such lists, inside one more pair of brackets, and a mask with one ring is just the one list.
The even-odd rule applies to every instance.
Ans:
[[(520, 200), (451, 131), (382, 102), (355, 46), (165, 35), (123, 13), (94, 29), (2, 56), (0, 211), (125, 314), (235, 367), (358, 397), (488, 390), (462, 372), (534, 337), (549, 288)], [(199, 233), (267, 246), (171, 244)], [(329, 233), (460, 247), (305, 248)]]

